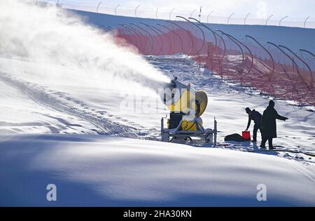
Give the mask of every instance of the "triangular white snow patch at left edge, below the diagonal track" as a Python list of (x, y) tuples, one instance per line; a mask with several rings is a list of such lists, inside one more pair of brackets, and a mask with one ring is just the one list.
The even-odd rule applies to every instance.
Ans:
[(3, 81), (0, 81), (0, 100), (0, 134), (95, 133), (91, 123), (43, 107)]

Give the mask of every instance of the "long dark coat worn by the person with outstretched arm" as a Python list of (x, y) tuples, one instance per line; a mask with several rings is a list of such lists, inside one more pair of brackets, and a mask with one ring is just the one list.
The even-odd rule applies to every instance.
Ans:
[(262, 136), (265, 138), (276, 138), (276, 119), (285, 121), (286, 117), (276, 112), (274, 107), (268, 106), (262, 114)]

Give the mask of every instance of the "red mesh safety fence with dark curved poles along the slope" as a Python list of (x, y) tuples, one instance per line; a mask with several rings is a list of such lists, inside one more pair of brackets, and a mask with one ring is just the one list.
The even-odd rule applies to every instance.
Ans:
[(186, 54), (214, 74), (275, 98), (315, 105), (315, 57), (311, 52), (246, 35), (242, 39), (198, 22), (122, 25), (117, 36), (143, 55)]

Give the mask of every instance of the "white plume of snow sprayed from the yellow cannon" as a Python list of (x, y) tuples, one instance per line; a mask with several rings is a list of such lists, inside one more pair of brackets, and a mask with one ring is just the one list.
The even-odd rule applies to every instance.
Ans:
[(122, 83), (156, 89), (169, 81), (141, 55), (76, 15), (18, 0), (1, 0), (0, 8), (0, 56), (37, 62), (28, 72), (113, 88)]

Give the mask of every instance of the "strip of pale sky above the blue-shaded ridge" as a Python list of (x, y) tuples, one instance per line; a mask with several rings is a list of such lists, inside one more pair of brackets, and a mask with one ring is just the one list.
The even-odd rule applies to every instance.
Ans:
[[(50, 0), (53, 1), (53, 0)], [(57, 1), (57, 0), (56, 0)], [(59, 0), (59, 2), (77, 2), (82, 4), (98, 4), (102, 0)], [(178, 8), (181, 11), (193, 11), (194, 9), (203, 7), (204, 13), (215, 11), (214, 15), (228, 15), (236, 13), (236, 15), (246, 15), (251, 13), (252, 17), (266, 18), (274, 14), (276, 17), (288, 15), (290, 18), (307, 18), (311, 16), (311, 20), (315, 20), (315, 0), (106, 0), (102, 1), (102, 5), (121, 6), (134, 8), (141, 5), (143, 8), (160, 7), (171, 10)]]

